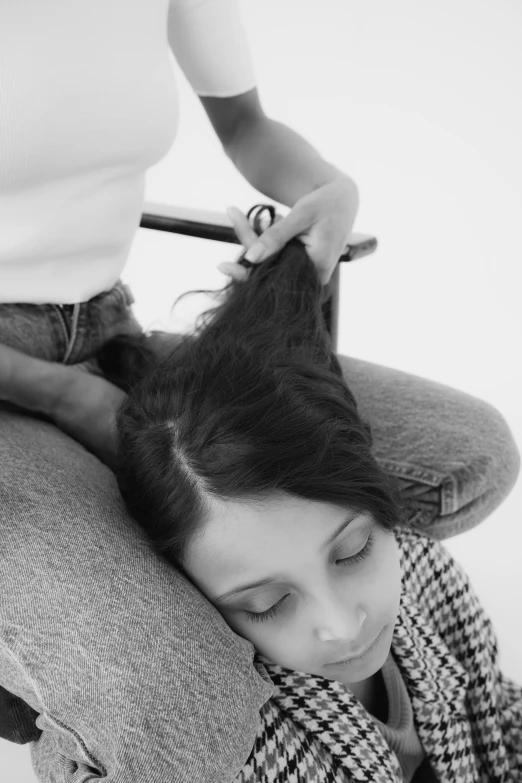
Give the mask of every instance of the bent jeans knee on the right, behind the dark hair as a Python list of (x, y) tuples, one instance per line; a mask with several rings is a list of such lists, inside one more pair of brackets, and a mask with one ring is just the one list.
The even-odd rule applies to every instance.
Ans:
[(478, 525), (515, 484), (520, 456), (502, 415), (469, 394), (339, 356), (373, 453), (412, 501), (412, 521), (445, 539)]

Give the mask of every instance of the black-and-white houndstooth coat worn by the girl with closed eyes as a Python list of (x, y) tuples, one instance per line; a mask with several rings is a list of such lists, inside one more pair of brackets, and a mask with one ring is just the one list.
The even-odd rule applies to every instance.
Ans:
[[(395, 532), (402, 566), (392, 654), (440, 783), (522, 781), (522, 687), (497, 666), (497, 642), (460, 566), (413, 529)], [(275, 686), (235, 783), (402, 783), (397, 756), (342, 683), (254, 657)]]

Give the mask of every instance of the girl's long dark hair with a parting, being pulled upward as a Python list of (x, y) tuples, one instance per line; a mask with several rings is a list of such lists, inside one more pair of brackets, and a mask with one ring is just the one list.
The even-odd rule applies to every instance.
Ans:
[(145, 338), (116, 338), (98, 357), (128, 392), (117, 417), (120, 492), (184, 573), (212, 498), (285, 492), (368, 511), (390, 530), (406, 522), (332, 351), (324, 290), (292, 240), (225, 286), (162, 359)]

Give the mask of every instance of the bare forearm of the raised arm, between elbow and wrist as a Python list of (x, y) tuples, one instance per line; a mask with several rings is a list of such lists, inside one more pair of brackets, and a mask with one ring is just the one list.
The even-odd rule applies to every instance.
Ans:
[(324, 160), (298, 133), (270, 117), (245, 123), (225, 151), (256, 190), (288, 207), (339, 178), (358, 190), (348, 174)]

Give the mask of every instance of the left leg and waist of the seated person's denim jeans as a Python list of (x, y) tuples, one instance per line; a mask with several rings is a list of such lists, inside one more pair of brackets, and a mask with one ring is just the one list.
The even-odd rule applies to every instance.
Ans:
[[(21, 328), (7, 309), (28, 310), (3, 306), (0, 340), (33, 355), (81, 362), (112, 336), (86, 339), (88, 309), (75, 331), (81, 309), (27, 307)], [(27, 415), (0, 410), (0, 432), (0, 685), (38, 716), (39, 780), (233, 780), (273, 692), (252, 645), (152, 550), (92, 454)]]

